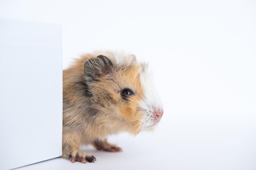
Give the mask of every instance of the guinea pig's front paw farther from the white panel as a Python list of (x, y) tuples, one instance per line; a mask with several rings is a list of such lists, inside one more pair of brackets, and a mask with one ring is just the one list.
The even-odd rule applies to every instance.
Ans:
[(107, 139), (105, 139), (105, 140), (101, 140), (101, 139), (95, 140), (92, 143), (92, 145), (98, 150), (105, 150), (105, 151), (108, 151), (108, 152), (121, 152), (121, 151), (123, 151), (122, 148), (108, 143)]

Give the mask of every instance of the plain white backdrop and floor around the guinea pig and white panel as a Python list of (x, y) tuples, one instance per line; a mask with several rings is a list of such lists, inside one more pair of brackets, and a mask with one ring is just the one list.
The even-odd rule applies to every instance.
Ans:
[(124, 50), (150, 62), (164, 104), (154, 132), (22, 169), (256, 169), (254, 0), (1, 0), (0, 17), (62, 24), (63, 68), (81, 53)]

